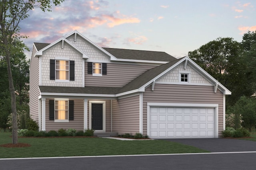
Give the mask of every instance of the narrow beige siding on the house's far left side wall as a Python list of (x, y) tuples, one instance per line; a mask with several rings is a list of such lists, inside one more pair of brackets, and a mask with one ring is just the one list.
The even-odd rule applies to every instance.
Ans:
[(38, 123), (38, 96), (40, 95), (38, 85), (39, 85), (39, 59), (35, 56), (36, 53), (35, 47), (32, 50), (32, 57), (30, 61), (30, 98), (29, 98), (29, 107), (30, 107), (30, 116)]

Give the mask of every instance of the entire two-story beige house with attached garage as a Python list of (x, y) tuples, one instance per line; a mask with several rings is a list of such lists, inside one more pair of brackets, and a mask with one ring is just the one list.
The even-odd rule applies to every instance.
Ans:
[(102, 48), (78, 31), (32, 50), (30, 115), (42, 131), (218, 138), (230, 94), (189, 57)]

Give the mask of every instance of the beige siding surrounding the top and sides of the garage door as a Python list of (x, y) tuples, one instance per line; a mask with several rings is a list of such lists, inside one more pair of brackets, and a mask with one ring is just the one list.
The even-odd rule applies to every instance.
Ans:
[(143, 134), (147, 133), (147, 103), (195, 103), (218, 104), (218, 133), (223, 131), (223, 94), (219, 90), (214, 93), (213, 86), (168, 85), (155, 84), (154, 91), (151, 86), (143, 94)]

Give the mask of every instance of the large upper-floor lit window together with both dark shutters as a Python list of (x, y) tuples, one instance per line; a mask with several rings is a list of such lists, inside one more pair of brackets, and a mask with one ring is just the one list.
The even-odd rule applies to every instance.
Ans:
[(50, 60), (50, 80), (69, 82), (75, 80), (75, 61)]

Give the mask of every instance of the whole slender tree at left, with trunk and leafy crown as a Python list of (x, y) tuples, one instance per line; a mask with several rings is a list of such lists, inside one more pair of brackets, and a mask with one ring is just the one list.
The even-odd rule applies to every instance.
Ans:
[[(21, 52), (21, 46), (24, 43), (14, 47), (13, 44), (20, 38), (18, 34), (19, 23), (28, 18), (28, 12), (34, 8), (40, 8), (42, 11), (50, 11), (52, 3), (56, 6), (64, 0), (1, 0), (0, 1), (0, 48), (3, 49), (2, 56), (6, 59), (9, 89), (12, 106), (12, 143), (18, 143), (17, 109), (14, 82), (12, 78), (11, 56)], [(23, 46), (25, 47), (25, 45)]]

